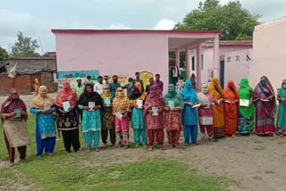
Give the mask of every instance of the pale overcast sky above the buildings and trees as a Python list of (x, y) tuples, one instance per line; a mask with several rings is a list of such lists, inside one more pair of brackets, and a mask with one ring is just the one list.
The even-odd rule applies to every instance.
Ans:
[[(221, 0), (221, 4), (228, 0)], [(286, 0), (240, 0), (260, 21), (286, 16)], [(0, 0), (0, 46), (8, 50), (17, 31), (40, 37), (55, 51), (51, 29), (172, 29), (199, 0)], [(41, 50), (38, 50), (41, 53)]]

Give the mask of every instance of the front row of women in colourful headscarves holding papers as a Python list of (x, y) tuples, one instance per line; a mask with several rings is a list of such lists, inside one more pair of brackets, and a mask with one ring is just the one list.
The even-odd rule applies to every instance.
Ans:
[[(106, 103), (106, 99), (111, 104)], [(286, 79), (278, 90), (277, 99), (280, 103), (277, 130), (286, 135)], [(16, 110), (20, 112), (16, 113)], [(103, 147), (106, 147), (108, 134), (112, 145), (117, 139), (119, 147), (129, 148), (130, 128), (133, 129), (136, 147), (148, 146), (149, 150), (153, 150), (155, 142), (164, 149), (164, 129), (170, 148), (179, 146), (181, 131), (185, 145), (197, 145), (198, 124), (203, 139), (224, 135), (234, 137), (236, 132), (249, 134), (254, 127), (257, 135), (276, 137), (276, 101), (273, 87), (266, 77), (260, 79), (255, 89), (249, 86), (248, 79), (241, 79), (239, 88), (229, 81), (224, 90), (219, 79), (214, 78), (209, 87), (203, 84), (198, 94), (188, 79), (180, 93), (169, 85), (164, 97), (156, 85), (151, 86), (147, 93), (138, 80), (130, 99), (121, 87), (117, 88), (113, 99), (108, 88), (99, 95), (94, 92), (92, 84), (87, 84), (84, 93), (78, 97), (71, 84), (65, 81), (56, 100), (47, 95), (45, 86), (41, 86), (31, 102), (30, 112), (37, 115), (38, 157), (42, 157), (44, 149), (47, 155), (54, 154), (56, 126), (62, 132), (65, 151), (71, 153), (71, 147), (74, 152), (80, 151), (79, 110), (83, 115), (81, 131), (88, 153), (92, 149), (99, 151), (100, 137)], [(10, 162), (14, 162), (15, 148), (24, 161), (26, 146), (29, 145), (28, 114), (17, 89), (11, 89), (8, 99), (2, 104), (1, 119)]]

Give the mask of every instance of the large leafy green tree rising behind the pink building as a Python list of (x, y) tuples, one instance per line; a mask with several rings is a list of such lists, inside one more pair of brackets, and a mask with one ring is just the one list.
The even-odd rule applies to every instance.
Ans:
[(223, 6), (219, 0), (200, 2), (174, 29), (222, 30), (222, 40), (251, 40), (260, 15), (241, 7), (240, 1)]

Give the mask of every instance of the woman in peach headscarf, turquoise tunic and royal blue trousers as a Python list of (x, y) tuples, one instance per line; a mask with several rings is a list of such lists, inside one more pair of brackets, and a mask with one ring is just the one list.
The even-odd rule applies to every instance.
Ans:
[(55, 150), (55, 101), (47, 95), (47, 88), (38, 88), (38, 95), (31, 102), (30, 112), (36, 114), (37, 157), (41, 157), (45, 149), (46, 155), (53, 155)]

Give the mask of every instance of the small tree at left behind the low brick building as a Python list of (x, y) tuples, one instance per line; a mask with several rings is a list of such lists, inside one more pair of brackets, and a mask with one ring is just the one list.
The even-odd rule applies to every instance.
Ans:
[(17, 34), (17, 41), (12, 46), (12, 55), (15, 57), (38, 57), (40, 54), (36, 53), (38, 46), (37, 40), (31, 37), (24, 37), (22, 32)]

